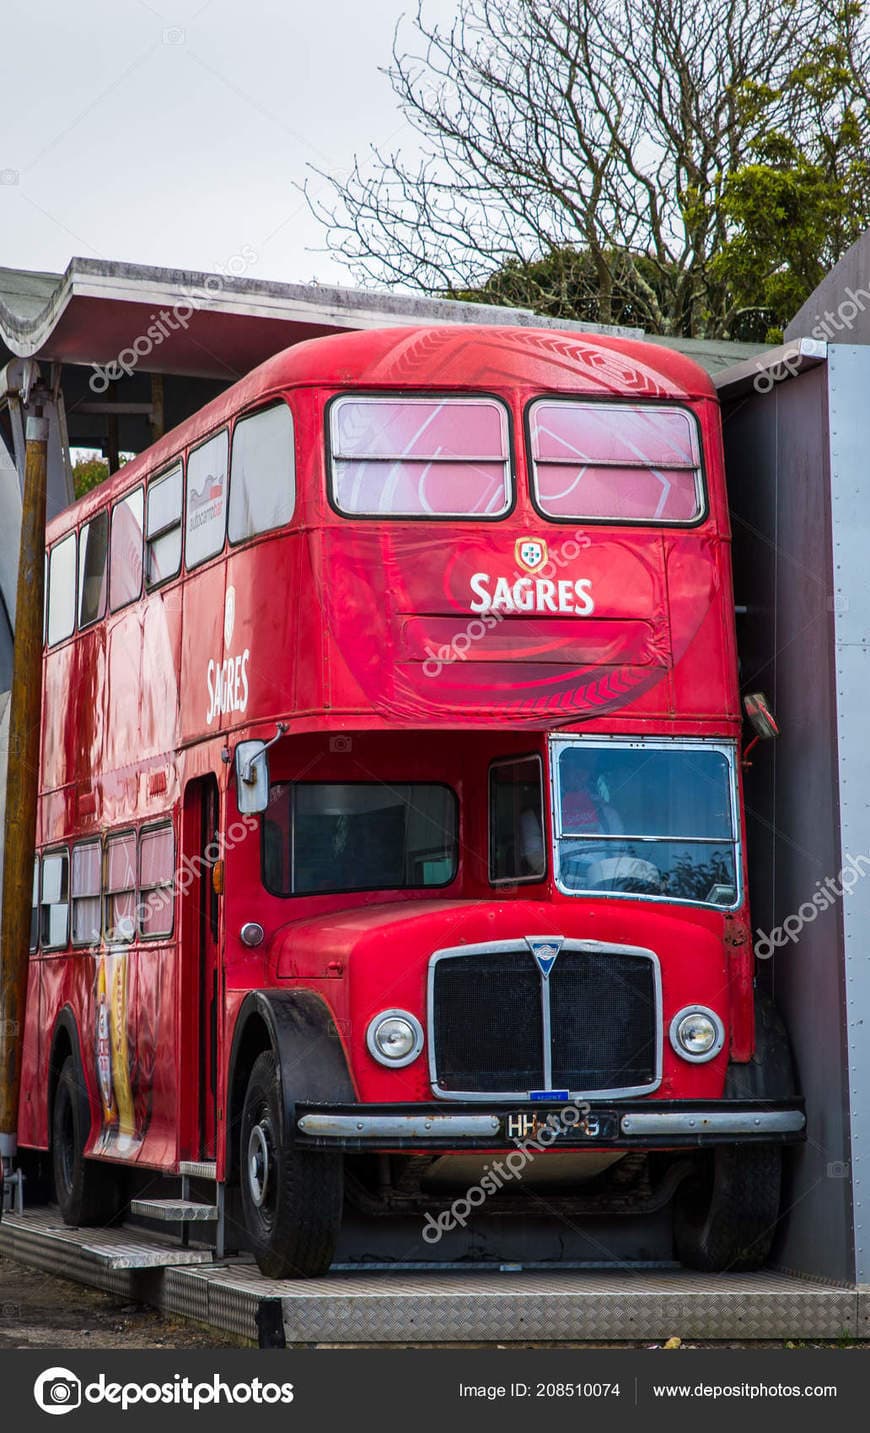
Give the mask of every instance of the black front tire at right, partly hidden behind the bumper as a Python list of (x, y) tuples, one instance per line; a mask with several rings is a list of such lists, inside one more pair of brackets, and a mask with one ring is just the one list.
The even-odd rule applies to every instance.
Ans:
[[(785, 1027), (765, 996), (755, 1002), (755, 1053), (731, 1065), (725, 1099), (787, 1099), (797, 1088)], [(781, 1145), (708, 1151), (674, 1199), (674, 1245), (707, 1274), (761, 1268), (771, 1251), (783, 1195)]]

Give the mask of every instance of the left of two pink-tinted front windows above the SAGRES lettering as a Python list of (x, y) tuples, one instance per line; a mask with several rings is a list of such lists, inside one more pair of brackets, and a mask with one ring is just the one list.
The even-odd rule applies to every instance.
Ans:
[(344, 397), (330, 408), (331, 494), (350, 517), (502, 517), (507, 413), (494, 398)]

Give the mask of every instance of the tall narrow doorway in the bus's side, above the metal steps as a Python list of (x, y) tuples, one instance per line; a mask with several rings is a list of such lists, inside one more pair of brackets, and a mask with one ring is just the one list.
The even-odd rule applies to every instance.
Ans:
[(219, 898), (214, 884), (218, 857), (219, 794), (214, 775), (191, 781), (185, 791), (185, 868), (192, 874), (186, 891), (188, 940), (182, 952), (182, 1010), (186, 1066), (191, 1083), (182, 1088), (183, 1126), (195, 1159), (215, 1158), (218, 1095), (219, 1009)]

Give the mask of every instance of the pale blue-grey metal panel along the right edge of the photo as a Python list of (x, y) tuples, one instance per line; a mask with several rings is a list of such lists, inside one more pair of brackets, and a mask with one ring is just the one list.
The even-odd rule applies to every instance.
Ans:
[(851, 1189), (856, 1278), (870, 1283), (870, 348), (840, 345), (830, 357), (831, 529), (837, 661), (837, 744), (846, 962), (846, 1037), (851, 1103)]

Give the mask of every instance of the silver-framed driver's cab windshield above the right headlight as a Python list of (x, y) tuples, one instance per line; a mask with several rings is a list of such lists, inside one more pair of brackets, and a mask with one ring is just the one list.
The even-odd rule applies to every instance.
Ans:
[(728, 748), (589, 741), (553, 748), (563, 891), (737, 904)]

